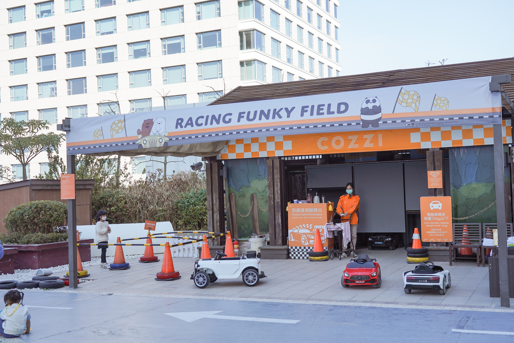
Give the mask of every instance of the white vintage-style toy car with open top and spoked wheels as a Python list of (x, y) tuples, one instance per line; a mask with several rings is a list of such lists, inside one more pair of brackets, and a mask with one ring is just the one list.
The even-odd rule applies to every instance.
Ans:
[(217, 279), (235, 279), (243, 275), (243, 282), (247, 286), (255, 286), (261, 278), (261, 253), (248, 251), (242, 257), (226, 257), (223, 252), (216, 251), (213, 259), (196, 260), (191, 280), (198, 288), (205, 288), (209, 282)]

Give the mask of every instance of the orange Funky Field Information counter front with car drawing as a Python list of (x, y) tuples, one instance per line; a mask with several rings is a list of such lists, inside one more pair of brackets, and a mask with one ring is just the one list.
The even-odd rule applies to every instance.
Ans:
[(332, 213), (333, 211), (328, 210), (328, 203), (289, 204), (289, 246), (314, 246), (316, 229), (321, 229), (321, 244), (324, 247), (332, 245), (333, 239), (328, 239), (325, 232), (325, 224), (331, 220)]

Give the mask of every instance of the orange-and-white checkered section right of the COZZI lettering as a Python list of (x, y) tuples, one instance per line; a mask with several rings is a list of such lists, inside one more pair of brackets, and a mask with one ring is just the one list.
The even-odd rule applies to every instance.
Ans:
[[(492, 125), (466, 125), (447, 128), (420, 128), (411, 132), (411, 143), (421, 149), (469, 147), (493, 144)], [(510, 119), (502, 121), (503, 143), (512, 143)]]

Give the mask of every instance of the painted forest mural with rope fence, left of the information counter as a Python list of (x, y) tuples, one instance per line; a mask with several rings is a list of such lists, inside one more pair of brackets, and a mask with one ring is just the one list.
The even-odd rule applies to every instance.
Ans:
[(266, 158), (231, 159), (225, 165), (229, 230), (236, 238), (269, 232)]

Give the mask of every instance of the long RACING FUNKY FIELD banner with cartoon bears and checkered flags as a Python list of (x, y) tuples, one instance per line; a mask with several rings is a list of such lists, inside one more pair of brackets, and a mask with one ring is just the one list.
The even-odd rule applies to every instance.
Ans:
[(71, 119), (67, 153), (166, 150), (167, 146), (273, 135), (501, 123), (490, 77), (313, 96)]

